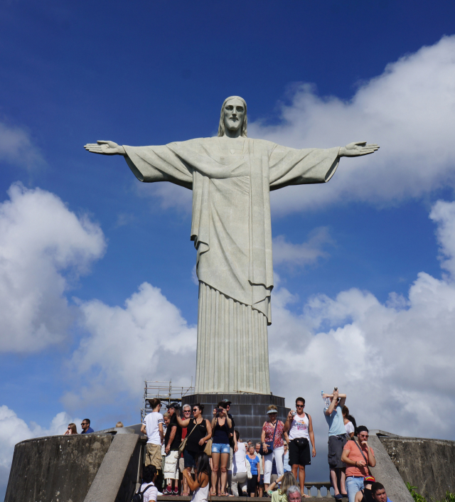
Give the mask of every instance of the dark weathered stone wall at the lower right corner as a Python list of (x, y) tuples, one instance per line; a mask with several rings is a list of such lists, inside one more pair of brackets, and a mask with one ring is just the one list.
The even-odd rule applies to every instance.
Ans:
[(455, 491), (455, 442), (443, 439), (380, 436), (380, 442), (403, 481), (419, 488), (429, 500), (444, 500)]

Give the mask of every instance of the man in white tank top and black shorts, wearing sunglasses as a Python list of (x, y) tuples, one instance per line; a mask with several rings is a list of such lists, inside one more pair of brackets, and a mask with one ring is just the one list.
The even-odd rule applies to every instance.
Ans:
[(306, 497), (305, 487), (305, 466), (311, 464), (310, 442), (312, 456), (316, 456), (314, 447), (313, 422), (310, 415), (304, 412), (305, 400), (303, 397), (296, 399), (296, 411), (291, 410), (284, 422), (284, 432), (289, 431), (289, 464), (297, 479), (297, 469), (299, 469), (299, 485), (301, 497)]

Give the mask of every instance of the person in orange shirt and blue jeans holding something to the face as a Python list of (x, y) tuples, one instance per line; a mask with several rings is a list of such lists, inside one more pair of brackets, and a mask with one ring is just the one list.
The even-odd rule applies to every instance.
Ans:
[(355, 493), (364, 488), (364, 480), (370, 475), (368, 466), (376, 465), (373, 448), (368, 445), (368, 429), (365, 425), (358, 427), (358, 441), (350, 439), (341, 455), (341, 461), (346, 464), (346, 488), (349, 502), (355, 502)]

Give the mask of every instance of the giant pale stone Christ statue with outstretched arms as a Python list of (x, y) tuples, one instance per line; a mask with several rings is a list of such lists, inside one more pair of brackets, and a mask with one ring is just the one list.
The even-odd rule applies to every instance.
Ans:
[(191, 240), (199, 279), (196, 393), (269, 394), (267, 325), (273, 288), (269, 192), (326, 183), (343, 156), (373, 154), (364, 141), (329, 149), (293, 149), (247, 137), (247, 104), (228, 97), (218, 137), (164, 146), (86, 144), (123, 155), (139, 181), (193, 190)]

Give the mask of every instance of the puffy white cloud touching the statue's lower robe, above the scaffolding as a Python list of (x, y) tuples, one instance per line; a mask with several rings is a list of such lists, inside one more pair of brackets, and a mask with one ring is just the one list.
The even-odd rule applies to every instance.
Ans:
[[(171, 380), (189, 385), (196, 361), (196, 327), (188, 326), (178, 308), (147, 282), (124, 307), (99, 300), (80, 303), (87, 336), (73, 354), (69, 369), (83, 375), (77, 391), (63, 397), (65, 407), (100, 404), (119, 393), (136, 396), (144, 380)], [(84, 383), (90, 382), (90, 385)]]

